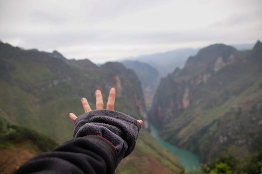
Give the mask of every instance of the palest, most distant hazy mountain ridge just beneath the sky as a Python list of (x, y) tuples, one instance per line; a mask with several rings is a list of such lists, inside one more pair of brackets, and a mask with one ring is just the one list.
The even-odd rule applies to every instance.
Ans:
[(123, 60), (137, 60), (148, 63), (159, 72), (161, 77), (165, 77), (168, 73), (174, 71), (176, 67), (182, 68), (191, 55), (195, 55), (198, 49), (182, 48), (164, 53), (156, 53), (150, 55), (141, 55), (138, 57), (125, 58)]

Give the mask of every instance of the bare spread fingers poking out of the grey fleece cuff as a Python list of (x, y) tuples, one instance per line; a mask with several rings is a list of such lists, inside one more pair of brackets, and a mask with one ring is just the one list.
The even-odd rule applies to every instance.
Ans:
[[(109, 96), (108, 96), (108, 101), (107, 101), (107, 104), (106, 104), (106, 109), (108, 110), (114, 110), (114, 107), (115, 107), (115, 97), (116, 97), (116, 90), (115, 88), (111, 88), (110, 92), (109, 92)], [(95, 91), (95, 98), (96, 98), (96, 109), (104, 109), (104, 103), (103, 103), (103, 97), (102, 97), (102, 93), (100, 90), (96, 90)], [(82, 105), (83, 105), (83, 108), (84, 108), (84, 111), (85, 113), (91, 111), (92, 109), (90, 108), (89, 104), (88, 104), (88, 101), (85, 97), (83, 97), (81, 99), (81, 102), (82, 102)], [(74, 121), (77, 116), (73, 113), (69, 113), (69, 117), (72, 121)], [(143, 121), (142, 120), (137, 120), (140, 125), (142, 126), (143, 125)]]

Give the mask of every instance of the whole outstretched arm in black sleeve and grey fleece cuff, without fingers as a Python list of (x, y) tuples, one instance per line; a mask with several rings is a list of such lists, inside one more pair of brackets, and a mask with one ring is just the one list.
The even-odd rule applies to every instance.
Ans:
[(93, 110), (74, 121), (74, 139), (38, 155), (15, 174), (114, 174), (120, 161), (135, 148), (141, 125), (117, 111)]

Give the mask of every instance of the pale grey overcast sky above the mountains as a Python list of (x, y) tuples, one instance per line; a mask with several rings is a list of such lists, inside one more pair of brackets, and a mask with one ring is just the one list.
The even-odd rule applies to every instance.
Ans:
[(262, 0), (0, 0), (0, 40), (95, 63), (262, 39)]

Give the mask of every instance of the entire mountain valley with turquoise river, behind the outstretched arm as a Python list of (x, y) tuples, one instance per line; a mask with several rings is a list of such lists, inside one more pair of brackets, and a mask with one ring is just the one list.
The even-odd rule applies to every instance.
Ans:
[[(116, 174), (182, 174), (201, 164), (211, 173), (221, 159), (232, 174), (247, 171), (242, 166), (249, 156), (260, 159), (262, 147), (262, 43), (244, 51), (224, 44), (191, 51), (184, 66), (172, 64), (164, 76), (145, 62), (98, 66), (0, 43), (0, 152), (27, 154), (25, 161), (70, 140), (68, 113), (83, 112), (81, 97), (95, 108), (94, 91), (106, 100), (115, 87), (115, 110), (144, 121)], [(21, 160), (13, 163), (12, 171)]]

